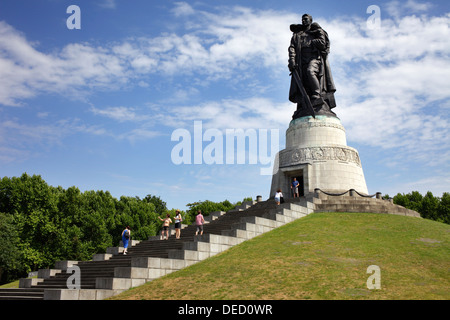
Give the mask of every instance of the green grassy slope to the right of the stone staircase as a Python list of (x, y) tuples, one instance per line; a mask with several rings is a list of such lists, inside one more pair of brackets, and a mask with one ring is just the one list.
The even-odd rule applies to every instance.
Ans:
[[(112, 299), (450, 299), (450, 226), (314, 213)], [(370, 265), (381, 289), (369, 290)]]

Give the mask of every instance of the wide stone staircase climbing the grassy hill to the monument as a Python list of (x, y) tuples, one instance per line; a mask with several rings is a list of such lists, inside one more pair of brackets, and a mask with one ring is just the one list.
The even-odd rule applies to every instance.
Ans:
[[(214, 256), (243, 241), (304, 217), (314, 211), (305, 199), (291, 199), (277, 206), (274, 201), (247, 202), (228, 212), (205, 217), (202, 236), (196, 226), (183, 226), (181, 239), (159, 236), (123, 248), (108, 248), (92, 261), (61, 261), (55, 269), (39, 270), (34, 279), (21, 279), (19, 289), (0, 289), (0, 300), (101, 300)], [(68, 289), (69, 272), (79, 268), (80, 287)]]

